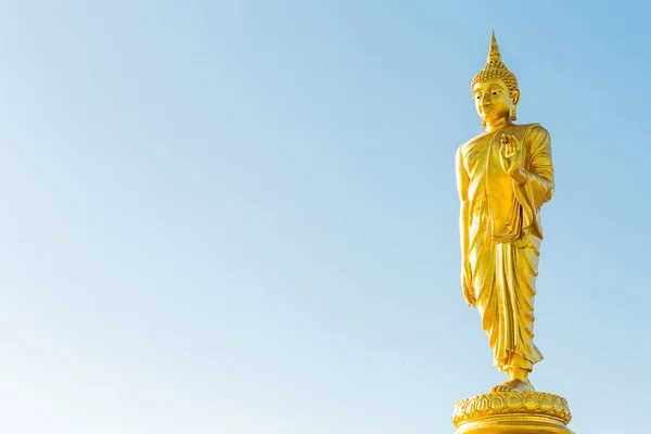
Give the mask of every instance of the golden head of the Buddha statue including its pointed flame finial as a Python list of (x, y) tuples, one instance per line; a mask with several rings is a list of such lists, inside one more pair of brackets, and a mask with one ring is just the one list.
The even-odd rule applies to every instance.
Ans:
[(518, 78), (501, 61), (495, 31), (486, 65), (472, 79), (471, 90), (475, 108), (483, 120), (482, 128), (486, 128), (486, 125), (516, 119), (520, 102)]

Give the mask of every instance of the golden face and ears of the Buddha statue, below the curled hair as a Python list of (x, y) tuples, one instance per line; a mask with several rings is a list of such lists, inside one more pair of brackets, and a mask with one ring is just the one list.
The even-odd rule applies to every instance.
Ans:
[(518, 104), (520, 98), (518, 90), (514, 90), (513, 93), (509, 92), (507, 85), (499, 78), (477, 82), (472, 93), (475, 108), (487, 125), (509, 120), (509, 108)]

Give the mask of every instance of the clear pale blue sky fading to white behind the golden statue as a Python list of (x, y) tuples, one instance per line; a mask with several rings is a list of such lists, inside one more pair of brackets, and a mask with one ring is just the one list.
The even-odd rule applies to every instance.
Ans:
[(527, 3), (3, 1), (0, 431), (452, 433), (495, 28), (557, 169), (532, 380), (644, 432), (651, 7)]

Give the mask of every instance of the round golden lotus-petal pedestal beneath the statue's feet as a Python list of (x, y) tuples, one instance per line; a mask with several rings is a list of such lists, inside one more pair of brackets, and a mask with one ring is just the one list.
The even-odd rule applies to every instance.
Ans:
[(572, 434), (567, 401), (539, 392), (492, 392), (455, 407), (456, 434)]

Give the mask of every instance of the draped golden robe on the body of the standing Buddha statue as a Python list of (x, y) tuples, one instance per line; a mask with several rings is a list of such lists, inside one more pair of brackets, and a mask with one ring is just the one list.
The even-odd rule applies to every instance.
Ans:
[[(523, 184), (501, 168), (503, 133), (520, 142)], [(471, 139), (457, 151), (457, 184), (465, 206), (463, 267), (470, 270), (494, 362), (502, 371), (531, 371), (542, 359), (533, 343), (534, 296), (542, 239), (539, 212), (553, 193), (549, 133), (538, 124), (508, 125)]]

